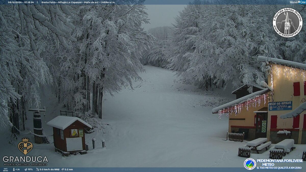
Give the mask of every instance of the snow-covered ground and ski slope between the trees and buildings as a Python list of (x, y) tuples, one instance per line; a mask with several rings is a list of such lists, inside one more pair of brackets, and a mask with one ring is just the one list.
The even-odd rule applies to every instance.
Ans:
[[(215, 92), (197, 89), (190, 80), (174, 76), (170, 70), (145, 66), (140, 73), (143, 82), (134, 82), (114, 97), (106, 95), (103, 104), (103, 125), (99, 131), (86, 134), (97, 140), (97, 149), (85, 155), (62, 157), (54, 151), (53, 144), (37, 147), (30, 156), (47, 156), (48, 166), (54, 167), (243, 167), (246, 158), (237, 156), (238, 147), (245, 143), (224, 141), (228, 118), (218, 120), (211, 114), (213, 107), (233, 100), (231, 89)], [(57, 115), (61, 107), (54, 95), (47, 95), (42, 102), (47, 107), (46, 122)], [(32, 126), (32, 114), (27, 126)], [(52, 128), (44, 123), (47, 135)], [(1, 138), (5, 130), (1, 132)], [(28, 136), (28, 135), (24, 135)], [(50, 137), (52, 142), (52, 136)], [(106, 140), (106, 149), (101, 140)], [(17, 142), (18, 143), (18, 142)], [(5, 139), (3, 156), (22, 155), (17, 143), (10, 145)], [(301, 159), (305, 145), (286, 155), (284, 159)], [(269, 152), (252, 154), (253, 159), (268, 159)], [(296, 164), (286, 164), (286, 166)], [(298, 166), (306, 168), (305, 163)]]

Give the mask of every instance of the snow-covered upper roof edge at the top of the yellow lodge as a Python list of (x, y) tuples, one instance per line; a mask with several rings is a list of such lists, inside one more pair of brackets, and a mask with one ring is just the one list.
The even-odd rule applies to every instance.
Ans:
[(303, 64), (303, 63), (292, 62), (292, 61), (278, 59), (278, 58), (269, 58), (269, 57), (264, 57), (264, 56), (258, 56), (258, 60), (260, 62), (271, 62), (277, 65), (284, 65), (284, 66), (306, 70), (306, 64)]

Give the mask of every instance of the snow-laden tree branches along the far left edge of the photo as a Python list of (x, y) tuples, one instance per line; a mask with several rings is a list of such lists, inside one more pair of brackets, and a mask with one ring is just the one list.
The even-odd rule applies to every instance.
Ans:
[(23, 122), (26, 118), (25, 103), (39, 108), (39, 87), (52, 83), (48, 66), (40, 54), (41, 38), (54, 35), (66, 48), (70, 48), (66, 40), (75, 40), (65, 29), (74, 28), (65, 18), (69, 13), (69, 7), (62, 5), (0, 6), (0, 121), (1, 125), (10, 123), (15, 135), (19, 116), (22, 115)]

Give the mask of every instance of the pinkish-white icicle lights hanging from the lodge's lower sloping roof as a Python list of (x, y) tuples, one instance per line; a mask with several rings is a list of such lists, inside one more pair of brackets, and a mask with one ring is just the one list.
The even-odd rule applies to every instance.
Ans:
[(241, 110), (246, 108), (248, 111), (250, 107), (259, 107), (262, 103), (264, 105), (267, 103), (268, 94), (258, 95), (253, 99), (247, 100), (243, 103), (237, 104), (233, 107), (224, 108), (222, 110), (219, 110), (219, 119), (221, 119), (223, 114), (226, 114), (226, 116), (229, 116), (230, 113), (235, 113), (235, 115), (239, 114)]

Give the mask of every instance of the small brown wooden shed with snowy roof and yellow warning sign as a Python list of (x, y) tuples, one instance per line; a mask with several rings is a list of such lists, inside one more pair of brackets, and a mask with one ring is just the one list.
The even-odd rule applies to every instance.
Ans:
[(91, 125), (77, 117), (57, 116), (47, 125), (53, 127), (55, 151), (63, 155), (79, 152), (86, 154), (85, 128), (92, 129)]

